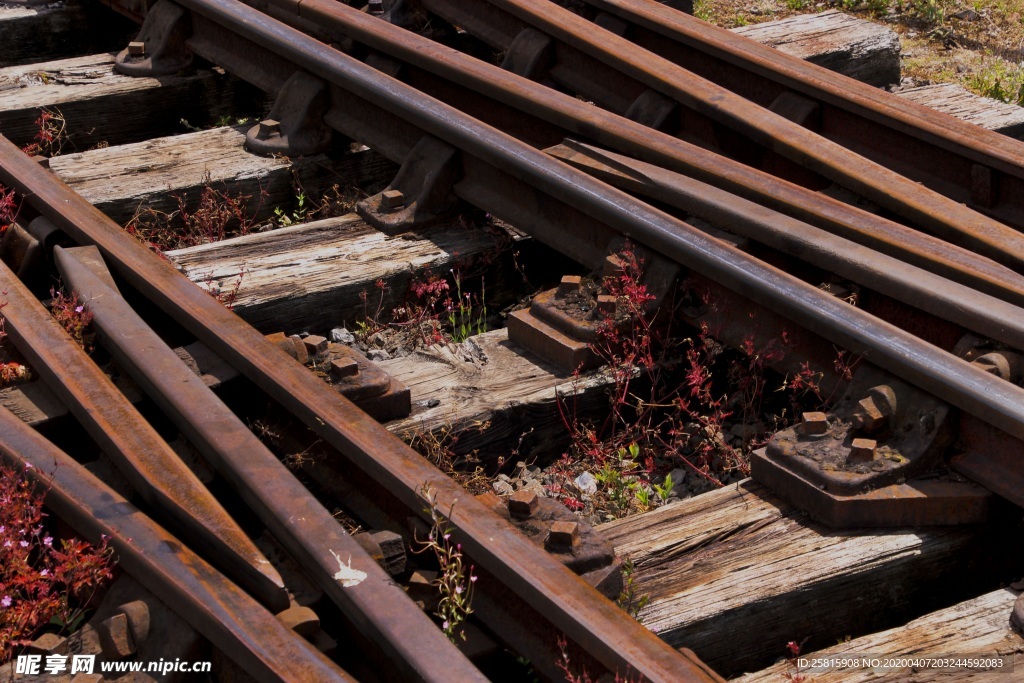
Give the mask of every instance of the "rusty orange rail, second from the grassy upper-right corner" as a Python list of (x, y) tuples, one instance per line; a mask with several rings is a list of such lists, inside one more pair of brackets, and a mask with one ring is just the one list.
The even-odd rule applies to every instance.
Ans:
[[(626, 113), (648, 91), (684, 112), (679, 134), (724, 125), (781, 157), (861, 195), (948, 242), (1024, 271), (1024, 234), (865, 159), (799, 123), (638, 47), (548, 0), (418, 0), (425, 8), (500, 49), (520, 35), (550, 39), (547, 69), (556, 84)], [(529, 33), (534, 32), (534, 33)], [(537, 38), (542, 34), (541, 38)], [(543, 55), (543, 51), (542, 51)], [(526, 59), (526, 56), (523, 57)]]

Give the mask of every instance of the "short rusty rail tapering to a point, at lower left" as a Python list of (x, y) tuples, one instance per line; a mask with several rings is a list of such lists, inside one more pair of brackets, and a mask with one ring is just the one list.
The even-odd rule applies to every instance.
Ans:
[(7, 302), (5, 331), (14, 346), (132, 487), (261, 602), (287, 607), (276, 570), (5, 264), (0, 264), (0, 291)]

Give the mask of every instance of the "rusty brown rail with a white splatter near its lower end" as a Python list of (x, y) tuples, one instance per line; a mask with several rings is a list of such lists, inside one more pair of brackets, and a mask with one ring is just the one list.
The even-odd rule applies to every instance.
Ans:
[[(90, 253), (91, 252), (91, 253)], [(103, 345), (165, 411), (274, 538), (361, 632), (373, 634), (378, 657), (402, 680), (484, 680), (350, 536), (203, 380), (121, 298), (83, 264), (96, 263), (95, 247), (54, 250), (63, 278), (93, 313)], [(99, 259), (99, 267), (102, 259)], [(94, 266), (95, 267), (95, 266)], [(339, 559), (340, 558), (340, 559)], [(362, 572), (344, 586), (340, 563)], [(390, 643), (403, 643), (392, 650)], [(415, 654), (413, 660), (398, 657)]]

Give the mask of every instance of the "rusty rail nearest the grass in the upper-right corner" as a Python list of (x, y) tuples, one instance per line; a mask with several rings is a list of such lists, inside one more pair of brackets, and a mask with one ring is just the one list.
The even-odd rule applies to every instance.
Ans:
[(1015, 227), (1024, 227), (1024, 143), (650, 0), (584, 0), (630, 41), (769, 106), (783, 92), (820, 106), (816, 132)]

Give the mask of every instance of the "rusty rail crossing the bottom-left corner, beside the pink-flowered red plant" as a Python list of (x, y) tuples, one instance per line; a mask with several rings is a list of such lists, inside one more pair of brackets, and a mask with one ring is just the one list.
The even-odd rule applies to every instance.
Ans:
[[(160, 596), (254, 680), (352, 681), (270, 612), (88, 470), (0, 409), (0, 459), (46, 492), (87, 541), (111, 537), (118, 566)], [(26, 466), (31, 468), (26, 470)]]

